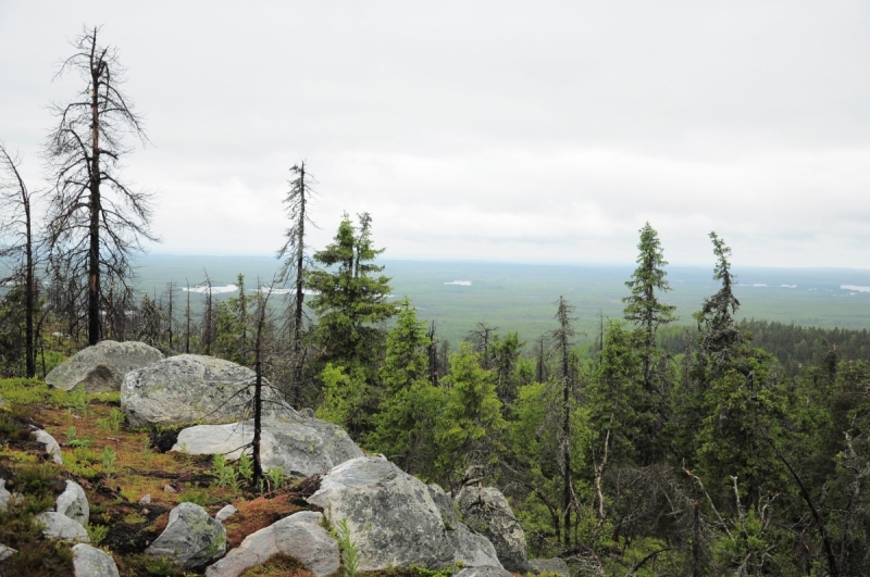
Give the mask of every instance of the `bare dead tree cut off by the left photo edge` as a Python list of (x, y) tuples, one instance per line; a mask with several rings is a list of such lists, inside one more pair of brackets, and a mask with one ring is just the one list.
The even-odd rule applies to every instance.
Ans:
[(0, 247), (0, 259), (16, 261), (14, 278), (4, 278), (8, 284), (21, 284), (24, 289), (24, 364), (27, 378), (36, 375), (36, 335), (34, 316), (36, 310), (36, 249), (34, 246), (33, 217), (30, 215), (30, 191), (18, 172), (21, 159), (11, 155), (0, 142), (0, 235), (10, 240)]

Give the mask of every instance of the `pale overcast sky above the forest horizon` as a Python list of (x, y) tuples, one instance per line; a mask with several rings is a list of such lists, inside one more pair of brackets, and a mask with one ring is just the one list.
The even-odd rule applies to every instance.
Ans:
[[(304, 159), (393, 259), (870, 268), (868, 2), (0, 0), (0, 139), (39, 151), (102, 25), (162, 253), (270, 254)], [(133, 141), (130, 143), (134, 143)]]

